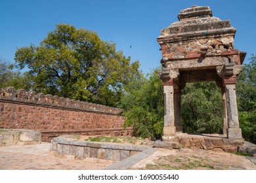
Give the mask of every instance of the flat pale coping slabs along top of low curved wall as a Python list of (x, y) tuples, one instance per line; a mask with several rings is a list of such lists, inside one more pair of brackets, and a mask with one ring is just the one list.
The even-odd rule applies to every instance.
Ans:
[(53, 138), (53, 141), (58, 144), (74, 145), (74, 146), (88, 146), (92, 148), (104, 148), (104, 149), (115, 149), (115, 150), (131, 150), (131, 151), (143, 151), (148, 146), (138, 146), (129, 144), (117, 144), (111, 142), (90, 142), (90, 141), (79, 141), (77, 139), (68, 139), (68, 136), (60, 136)]

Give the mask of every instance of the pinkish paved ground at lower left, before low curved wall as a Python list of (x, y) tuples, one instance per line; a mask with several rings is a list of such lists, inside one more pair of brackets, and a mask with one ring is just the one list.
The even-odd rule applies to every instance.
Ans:
[(56, 158), (49, 154), (50, 143), (27, 146), (0, 146), (1, 170), (86, 170), (103, 169), (110, 162)]

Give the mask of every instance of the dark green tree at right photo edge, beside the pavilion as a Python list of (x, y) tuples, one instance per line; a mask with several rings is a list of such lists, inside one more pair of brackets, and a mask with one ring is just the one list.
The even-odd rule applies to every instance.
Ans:
[(238, 76), (236, 95), (242, 135), (256, 144), (256, 56), (252, 55), (249, 61)]

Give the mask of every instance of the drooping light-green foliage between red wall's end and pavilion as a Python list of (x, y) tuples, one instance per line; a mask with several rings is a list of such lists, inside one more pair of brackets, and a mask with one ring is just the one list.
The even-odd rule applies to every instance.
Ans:
[(121, 97), (125, 126), (135, 128), (135, 136), (160, 139), (163, 131), (163, 87), (155, 71), (148, 78), (133, 80)]

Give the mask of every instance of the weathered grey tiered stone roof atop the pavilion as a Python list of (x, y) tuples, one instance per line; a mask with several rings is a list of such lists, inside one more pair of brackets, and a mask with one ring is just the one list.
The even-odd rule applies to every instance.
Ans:
[[(198, 35), (235, 34), (236, 29), (230, 25), (230, 20), (221, 20), (212, 16), (209, 7), (192, 6), (181, 10), (178, 15), (179, 22), (161, 30), (159, 38), (188, 37)], [(175, 41), (175, 40), (173, 40)]]

